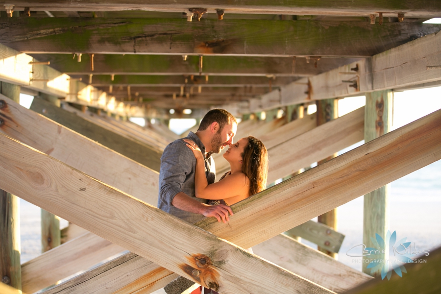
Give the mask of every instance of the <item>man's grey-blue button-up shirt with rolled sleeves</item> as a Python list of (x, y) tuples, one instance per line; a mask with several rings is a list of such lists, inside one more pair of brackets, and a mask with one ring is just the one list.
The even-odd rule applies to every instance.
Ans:
[[(205, 154), (205, 147), (195, 133), (190, 132), (185, 139), (193, 140)], [(158, 207), (184, 221), (193, 223), (203, 218), (200, 214), (186, 212), (172, 205), (172, 200), (179, 192), (184, 192), (197, 201), (207, 203), (206, 199), (196, 198), (195, 171), (196, 158), (193, 151), (187, 147), (182, 139), (170, 143), (161, 156), (161, 170), (159, 171)], [(216, 179), (216, 168), (211, 156), (205, 158), (205, 174), (208, 184)]]

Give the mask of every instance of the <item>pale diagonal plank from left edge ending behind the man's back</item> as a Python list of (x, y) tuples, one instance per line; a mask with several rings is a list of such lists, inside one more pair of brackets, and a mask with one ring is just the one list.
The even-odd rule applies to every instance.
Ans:
[[(0, 96), (0, 99), (6, 102), (6, 106), (0, 109), (0, 115), (5, 119), (0, 132), (151, 205), (157, 204), (158, 172), (28, 110), (5, 96)], [(58, 110), (65, 113), (62, 109)], [(74, 116), (72, 125), (77, 121), (78, 118)]]

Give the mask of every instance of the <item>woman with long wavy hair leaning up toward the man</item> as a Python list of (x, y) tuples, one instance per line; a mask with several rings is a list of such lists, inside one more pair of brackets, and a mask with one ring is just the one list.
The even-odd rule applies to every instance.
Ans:
[(230, 172), (219, 182), (208, 185), (205, 175), (204, 158), (191, 141), (184, 139), (196, 157), (195, 190), (196, 197), (210, 199), (209, 204), (220, 202), (226, 205), (237, 203), (248, 196), (264, 190), (268, 175), (268, 152), (263, 143), (252, 137), (240, 139), (231, 144), (223, 157), (230, 163)]

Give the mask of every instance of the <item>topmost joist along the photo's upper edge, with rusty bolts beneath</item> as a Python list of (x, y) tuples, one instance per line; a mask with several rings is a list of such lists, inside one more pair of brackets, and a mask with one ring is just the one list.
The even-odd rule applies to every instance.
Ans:
[[(146, 3), (142, 0), (105, 0), (105, 1), (41, 1), (41, 0), (2, 0), (0, 3), (14, 4), (16, 10), (31, 7), (37, 11), (121, 11), (121, 10), (148, 10), (158, 12), (188, 12), (189, 8), (203, 7), (209, 13), (216, 9), (229, 13), (250, 14), (293, 14), (293, 15), (342, 15), (342, 16), (368, 16), (372, 13), (383, 12), (384, 16), (394, 16), (405, 13), (408, 17), (436, 17), (441, 15), (441, 5), (437, 0), (410, 0), (405, 2), (390, 1), (352, 1), (339, 2), (327, 1), (302, 1), (302, 0), (276, 0), (276, 1), (215, 1), (215, 0), (178, 0), (156, 1)], [(226, 17), (225, 17), (226, 18)]]

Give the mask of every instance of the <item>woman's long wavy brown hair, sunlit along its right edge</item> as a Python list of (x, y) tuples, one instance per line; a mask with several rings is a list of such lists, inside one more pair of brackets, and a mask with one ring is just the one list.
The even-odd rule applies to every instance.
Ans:
[(249, 195), (265, 190), (268, 177), (268, 151), (262, 141), (248, 136), (242, 153), (242, 172), (249, 178)]

